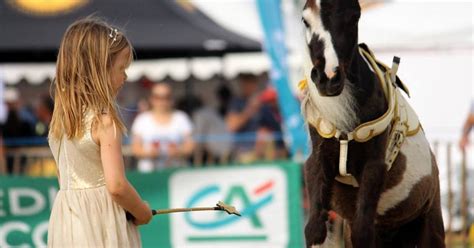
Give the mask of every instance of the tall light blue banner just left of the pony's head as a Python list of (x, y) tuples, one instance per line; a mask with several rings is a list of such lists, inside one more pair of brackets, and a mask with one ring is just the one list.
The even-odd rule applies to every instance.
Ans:
[(260, 21), (265, 33), (265, 50), (272, 61), (270, 78), (278, 92), (278, 103), (283, 116), (285, 140), (291, 154), (308, 154), (308, 139), (300, 105), (292, 94), (289, 83), (289, 69), (285, 32), (281, 12), (281, 0), (256, 0)]

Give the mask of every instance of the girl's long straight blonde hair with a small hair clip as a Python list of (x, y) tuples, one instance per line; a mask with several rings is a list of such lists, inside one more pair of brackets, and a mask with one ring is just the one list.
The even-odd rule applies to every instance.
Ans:
[(115, 103), (110, 69), (119, 52), (133, 48), (123, 32), (97, 17), (71, 24), (61, 41), (54, 80), (54, 113), (50, 137), (80, 138), (84, 135), (85, 111), (94, 120), (106, 112), (126, 132)]

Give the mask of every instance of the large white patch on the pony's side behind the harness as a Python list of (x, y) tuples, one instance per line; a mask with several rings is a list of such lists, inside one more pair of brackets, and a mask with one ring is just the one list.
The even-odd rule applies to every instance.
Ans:
[(400, 153), (403, 153), (406, 157), (406, 169), (403, 179), (398, 185), (382, 193), (377, 206), (377, 213), (379, 215), (384, 215), (389, 209), (407, 199), (413, 186), (423, 177), (431, 175), (430, 145), (422, 130), (415, 136), (405, 139)]

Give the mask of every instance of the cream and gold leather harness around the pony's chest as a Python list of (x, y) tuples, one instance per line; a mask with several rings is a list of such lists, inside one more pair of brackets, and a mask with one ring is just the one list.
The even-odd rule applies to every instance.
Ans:
[[(405, 138), (416, 135), (421, 129), (418, 116), (400, 91), (400, 88), (402, 88), (408, 95), (407, 88), (400, 80), (397, 81), (396, 77), (400, 59), (395, 57), (392, 68), (389, 68), (377, 61), (372, 51), (365, 44), (359, 45), (359, 52), (375, 72), (382, 86), (388, 102), (387, 111), (381, 117), (362, 123), (348, 133), (338, 130), (334, 124), (322, 117), (317, 118), (315, 122), (308, 120), (309, 124), (317, 130), (321, 137), (326, 139), (336, 138), (339, 141), (339, 175), (336, 176), (336, 180), (353, 187), (358, 187), (359, 184), (357, 179), (347, 172), (349, 142), (353, 140), (366, 142), (383, 133), (387, 128), (391, 128), (385, 154), (388, 171), (397, 158)], [(299, 88), (304, 91), (306, 87), (307, 80), (305, 79), (300, 82)]]

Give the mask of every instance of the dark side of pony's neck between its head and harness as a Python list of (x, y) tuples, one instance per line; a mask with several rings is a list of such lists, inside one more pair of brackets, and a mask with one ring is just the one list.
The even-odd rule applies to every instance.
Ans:
[(382, 116), (388, 108), (387, 100), (375, 73), (362, 57), (358, 47), (354, 49), (348, 79), (353, 84), (360, 123)]

